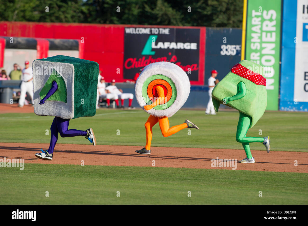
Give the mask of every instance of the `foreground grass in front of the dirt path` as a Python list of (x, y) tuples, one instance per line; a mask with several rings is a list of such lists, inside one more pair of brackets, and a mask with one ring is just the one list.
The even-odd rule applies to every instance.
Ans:
[(26, 164), (1, 169), (0, 204), (308, 204), (307, 181), (306, 173)]

